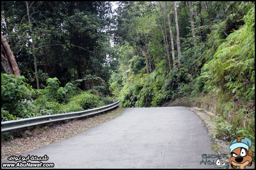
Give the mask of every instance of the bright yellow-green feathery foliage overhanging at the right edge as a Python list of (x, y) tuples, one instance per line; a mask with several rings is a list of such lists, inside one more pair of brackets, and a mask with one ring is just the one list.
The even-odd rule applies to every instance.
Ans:
[(255, 16), (251, 11), (244, 17), (245, 25), (230, 34), (204, 65), (210, 77), (206, 88), (227, 94), (225, 99), (255, 99), (255, 33), (250, 25)]

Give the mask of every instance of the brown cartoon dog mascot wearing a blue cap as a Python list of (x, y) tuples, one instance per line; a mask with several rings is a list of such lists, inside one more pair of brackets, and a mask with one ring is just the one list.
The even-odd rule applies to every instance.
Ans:
[(245, 166), (252, 165), (252, 155), (251, 150), (252, 141), (244, 136), (236, 138), (230, 144), (230, 165), (233, 168), (240, 167), (240, 169), (245, 169)]

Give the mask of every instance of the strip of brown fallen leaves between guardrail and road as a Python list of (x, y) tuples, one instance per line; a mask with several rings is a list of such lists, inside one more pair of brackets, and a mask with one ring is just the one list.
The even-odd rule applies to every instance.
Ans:
[(22, 153), (27, 153), (50, 143), (70, 138), (93, 126), (119, 116), (122, 111), (123, 108), (118, 107), (110, 112), (101, 113), (93, 117), (66, 120), (39, 127), (30, 127), (25, 130), (17, 131), (22, 134), (22, 137), (16, 137), (10, 141), (3, 140), (2, 136), (1, 159), (7, 159), (12, 155), (19, 156)]

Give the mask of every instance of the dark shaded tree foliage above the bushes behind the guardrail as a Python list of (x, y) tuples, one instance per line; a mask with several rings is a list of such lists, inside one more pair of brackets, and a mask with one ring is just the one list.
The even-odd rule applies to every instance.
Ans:
[[(1, 30), (12, 48), (21, 75), (32, 87), (36, 87), (33, 52), (40, 88), (45, 87), (48, 77), (57, 77), (62, 87), (89, 74), (109, 81), (111, 71), (118, 64), (117, 51), (111, 46), (109, 36), (116, 23), (111, 2), (28, 3), (35, 50), (29, 41), (32, 35), (24, 2), (1, 2)], [(101, 84), (94, 82), (94, 85)], [(79, 88), (89, 90), (85, 83)], [(108, 87), (102, 93), (109, 94)]]

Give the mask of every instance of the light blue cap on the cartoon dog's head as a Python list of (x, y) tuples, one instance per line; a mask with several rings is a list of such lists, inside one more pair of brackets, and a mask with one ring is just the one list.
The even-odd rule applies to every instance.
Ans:
[(245, 137), (244, 138), (237, 138), (230, 144), (230, 153), (239, 147), (244, 147), (247, 151), (249, 151), (250, 147), (252, 146), (252, 141)]

